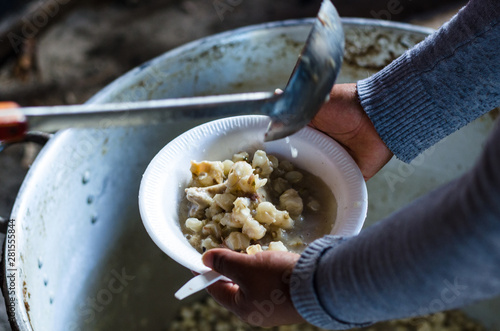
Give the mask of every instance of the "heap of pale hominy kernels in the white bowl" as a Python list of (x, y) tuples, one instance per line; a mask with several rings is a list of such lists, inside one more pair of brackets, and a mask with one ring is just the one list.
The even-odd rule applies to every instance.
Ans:
[(302, 198), (293, 189), (303, 174), (291, 162), (258, 150), (252, 158), (241, 152), (222, 162), (192, 161), (191, 172), (192, 183), (186, 189), (189, 217), (184, 226), (195, 248), (245, 252), (251, 247), (252, 254), (287, 250), (286, 232), (294, 228), (294, 218), (302, 220), (303, 210)]

